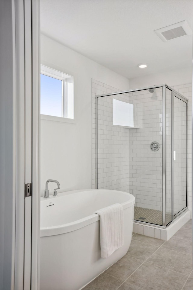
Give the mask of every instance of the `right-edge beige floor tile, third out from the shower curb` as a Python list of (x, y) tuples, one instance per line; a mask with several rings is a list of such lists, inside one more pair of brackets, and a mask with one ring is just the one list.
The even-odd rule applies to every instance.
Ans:
[(147, 262), (179, 272), (186, 276), (189, 276), (192, 271), (191, 255), (185, 255), (162, 247), (158, 249)]

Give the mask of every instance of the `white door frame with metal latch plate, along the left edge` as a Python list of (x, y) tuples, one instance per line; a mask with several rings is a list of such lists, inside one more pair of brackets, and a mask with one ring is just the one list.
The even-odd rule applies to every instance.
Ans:
[[(4, 83), (0, 82), (0, 132), (7, 131), (5, 137), (10, 136), (4, 141), (5, 137), (1, 135), (4, 138), (0, 142), (1, 153), (5, 153), (0, 160), (9, 166), (8, 172), (4, 164), (0, 164), (0, 171), (5, 172), (4, 181), (0, 179), (1, 201), (5, 205), (5, 208), (0, 207), (1, 290), (39, 289), (38, 6), (39, 0), (2, 0), (0, 5), (0, 40), (2, 46), (4, 40), (7, 45), (1, 50), (0, 60), (4, 66), (0, 69), (10, 79), (10, 83), (6, 78)], [(8, 91), (9, 87), (11, 90)], [(7, 92), (11, 96), (7, 96)], [(7, 121), (9, 115), (11, 118)], [(7, 224), (9, 228), (6, 228)]]

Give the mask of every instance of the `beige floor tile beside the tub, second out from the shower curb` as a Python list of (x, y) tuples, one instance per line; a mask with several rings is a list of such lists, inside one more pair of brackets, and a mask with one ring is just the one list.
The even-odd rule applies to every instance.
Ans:
[(135, 259), (145, 261), (151, 256), (159, 247), (142, 243), (137, 240), (132, 240), (129, 250), (126, 255), (131, 256)]

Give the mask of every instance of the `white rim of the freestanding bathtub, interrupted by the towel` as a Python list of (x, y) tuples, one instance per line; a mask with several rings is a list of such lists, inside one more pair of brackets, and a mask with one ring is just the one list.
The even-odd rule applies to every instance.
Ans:
[[(129, 197), (128, 201), (121, 203), (123, 209), (134, 206), (134, 203), (135, 203), (135, 197), (131, 193), (123, 192), (123, 191), (119, 191), (119, 190), (112, 190), (112, 189), (80, 189), (80, 190), (72, 190), (72, 191), (68, 191), (68, 192), (61, 192), (61, 193), (59, 193), (59, 196), (57, 196), (57, 197), (50, 195), (49, 201), (53, 200), (54, 198), (59, 198), (59, 197), (65, 196), (65, 195), (74, 194), (74, 193), (78, 193), (78, 192), (85, 192), (85, 191), (113, 191), (113, 192), (117, 192), (117, 193), (122, 193), (124, 195), (128, 195), (128, 197)], [(47, 201), (47, 199), (44, 199), (43, 197), (41, 197), (40, 202), (44, 202), (44, 201)], [(61, 225), (52, 226), (52, 227), (41, 227), (40, 228), (40, 237), (48, 237), (48, 236), (55, 236), (55, 235), (59, 235), (59, 234), (69, 233), (69, 232), (72, 232), (74, 230), (78, 230), (82, 227), (85, 227), (89, 224), (92, 224), (96, 221), (99, 221), (99, 214), (91, 214), (85, 218), (81, 218), (79, 220), (76, 220), (76, 221), (73, 221), (73, 222), (67, 223), (67, 224), (61, 224)]]

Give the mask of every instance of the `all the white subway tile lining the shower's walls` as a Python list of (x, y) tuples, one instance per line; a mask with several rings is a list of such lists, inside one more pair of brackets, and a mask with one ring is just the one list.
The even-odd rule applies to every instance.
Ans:
[[(191, 84), (173, 87), (188, 97), (188, 209), (191, 211)], [(96, 188), (96, 98), (119, 89), (92, 79), (92, 188)], [(166, 92), (166, 211), (171, 213), (171, 98)], [(113, 97), (98, 102), (98, 188), (132, 193), (136, 206), (162, 210), (162, 89), (114, 96), (134, 104), (134, 127), (112, 126)], [(179, 116), (181, 117), (181, 116)], [(160, 149), (153, 152), (150, 143)], [(182, 201), (182, 198), (181, 198)], [(147, 234), (147, 233), (146, 233)], [(153, 235), (153, 232), (150, 231)]]

